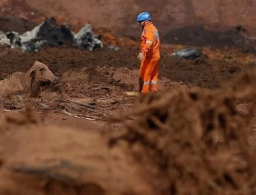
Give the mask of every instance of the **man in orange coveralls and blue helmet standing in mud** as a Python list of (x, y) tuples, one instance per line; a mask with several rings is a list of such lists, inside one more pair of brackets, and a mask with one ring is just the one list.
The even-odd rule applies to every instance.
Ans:
[(141, 61), (139, 91), (148, 93), (158, 91), (158, 65), (160, 62), (160, 38), (157, 28), (151, 22), (148, 12), (137, 15), (137, 23), (142, 29), (140, 52), (137, 58)]

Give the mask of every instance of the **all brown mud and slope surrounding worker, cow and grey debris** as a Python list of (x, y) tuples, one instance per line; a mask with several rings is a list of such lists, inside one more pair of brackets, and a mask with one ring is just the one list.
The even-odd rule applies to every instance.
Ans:
[[(133, 19), (143, 2), (120, 1), (118, 11), (120, 2), (70, 2), (0, 0), (4, 32), (55, 16), (74, 31), (92, 22), (105, 46), (120, 46), (35, 53), (0, 46), (0, 79), (34, 61), (60, 79), (38, 98), (0, 98), (0, 194), (255, 194), (255, 2), (152, 1), (163, 44), (159, 92), (146, 96), (133, 93), (140, 33)], [(133, 11), (123, 15), (124, 8)], [(98, 9), (104, 17), (92, 14)], [(171, 56), (185, 47), (205, 56)]]

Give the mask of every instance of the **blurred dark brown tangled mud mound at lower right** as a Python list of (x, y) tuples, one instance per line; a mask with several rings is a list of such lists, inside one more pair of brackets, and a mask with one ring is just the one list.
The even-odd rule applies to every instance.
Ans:
[(255, 99), (255, 76), (247, 73), (214, 91), (143, 96), (133, 112), (113, 118), (126, 131), (109, 144), (129, 148), (159, 194), (251, 194), (256, 167), (248, 133), (256, 105), (244, 118), (236, 100)]

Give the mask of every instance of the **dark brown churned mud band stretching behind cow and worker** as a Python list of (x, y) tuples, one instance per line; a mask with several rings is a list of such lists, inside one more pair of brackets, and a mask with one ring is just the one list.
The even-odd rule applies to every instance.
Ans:
[[(83, 68), (95, 73), (96, 67), (104, 66), (139, 69), (138, 52), (138, 48), (134, 47), (122, 47), (118, 51), (103, 49), (94, 52), (73, 48), (48, 48), (32, 54), (5, 49), (0, 54), (0, 70), (5, 75), (15, 71), (26, 71), (34, 61), (42, 61), (55, 75)], [(233, 63), (225, 58), (185, 61), (172, 56), (162, 56), (160, 77), (199, 87), (216, 88), (222, 81), (231, 79), (237, 73), (251, 67), (255, 67), (255, 63)]]

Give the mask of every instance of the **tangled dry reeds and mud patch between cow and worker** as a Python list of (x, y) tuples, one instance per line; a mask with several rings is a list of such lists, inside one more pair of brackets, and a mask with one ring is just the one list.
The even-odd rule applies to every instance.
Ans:
[[(1, 109), (11, 112), (32, 107), (38, 112), (55, 112), (87, 120), (105, 120), (113, 110), (127, 108), (132, 104), (133, 97), (123, 93), (123, 90), (131, 90), (129, 85), (115, 83), (100, 72), (94, 71), (91, 74), (86, 70), (67, 71), (59, 78), (58, 84), (44, 86), (44, 91), (38, 94), (40, 98), (28, 98), (26, 95), (0, 98)], [(2, 92), (11, 92), (4, 89)], [(14, 90), (15, 87), (11, 89)]]

